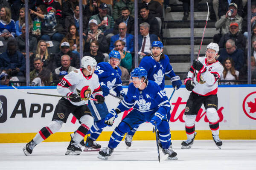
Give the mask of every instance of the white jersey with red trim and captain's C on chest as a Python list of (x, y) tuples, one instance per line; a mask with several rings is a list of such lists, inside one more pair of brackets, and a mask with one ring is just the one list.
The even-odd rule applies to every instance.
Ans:
[[(207, 57), (199, 57), (198, 61), (206, 67), (206, 71), (202, 74), (198, 73), (197, 70), (195, 71), (195, 78), (193, 80), (195, 88), (192, 91), (202, 96), (217, 94), (218, 79), (224, 70), (223, 66), (218, 61), (209, 64), (207, 62)], [(188, 72), (188, 79), (192, 78), (193, 72), (194, 68), (191, 66)], [(186, 84), (186, 80), (184, 84)]]

